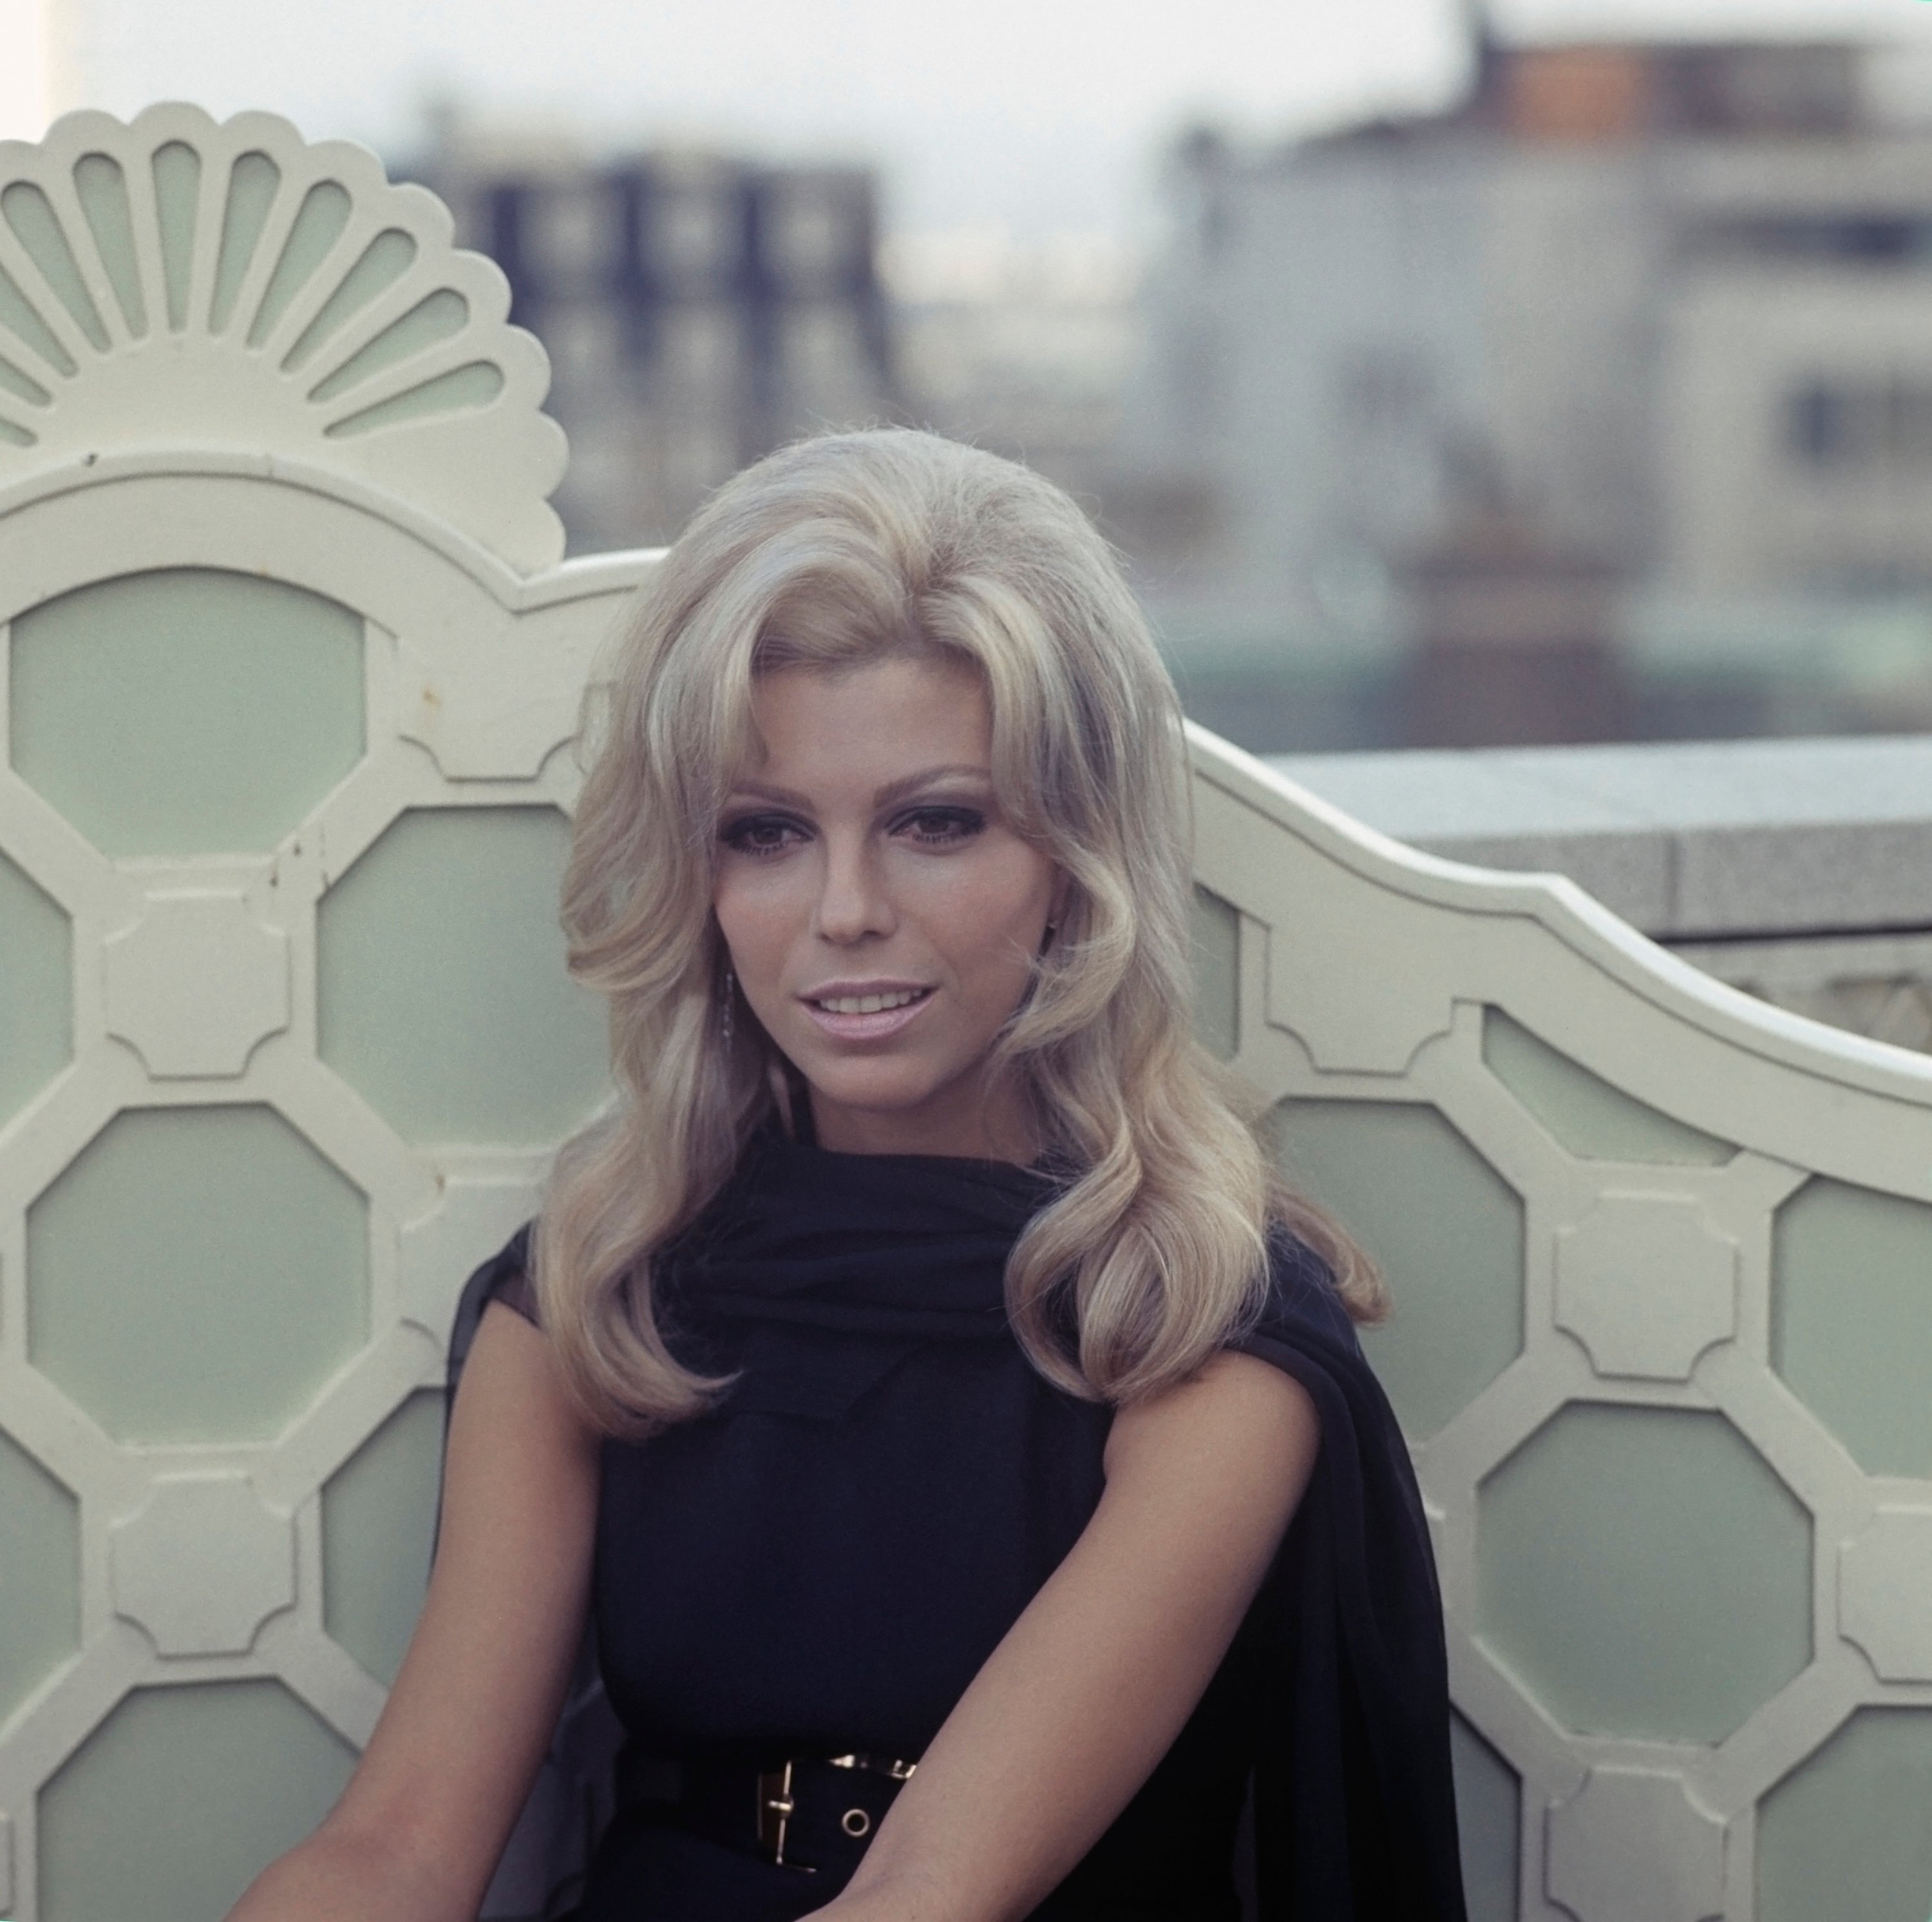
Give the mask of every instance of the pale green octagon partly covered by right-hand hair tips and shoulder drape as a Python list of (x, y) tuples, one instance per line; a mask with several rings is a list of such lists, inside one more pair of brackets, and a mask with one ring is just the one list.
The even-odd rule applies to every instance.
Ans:
[(1285, 1101), (1273, 1130), (1387, 1277), (1395, 1314), (1362, 1346), (1403, 1427), (1434, 1435), (1522, 1352), (1522, 1201), (1432, 1107)]

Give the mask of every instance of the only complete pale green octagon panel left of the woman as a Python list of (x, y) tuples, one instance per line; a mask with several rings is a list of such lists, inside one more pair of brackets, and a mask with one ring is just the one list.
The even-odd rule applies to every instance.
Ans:
[(124, 1113), (27, 1213), (27, 1356), (116, 1441), (272, 1437), (367, 1333), (365, 1201), (272, 1109)]

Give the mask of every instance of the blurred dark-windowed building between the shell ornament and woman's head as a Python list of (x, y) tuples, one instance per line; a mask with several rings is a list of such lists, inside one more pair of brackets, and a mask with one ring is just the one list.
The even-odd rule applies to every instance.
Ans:
[(769, 448), (898, 411), (867, 168), (591, 160), (448, 118), (415, 172), (549, 350), (576, 551), (668, 541)]

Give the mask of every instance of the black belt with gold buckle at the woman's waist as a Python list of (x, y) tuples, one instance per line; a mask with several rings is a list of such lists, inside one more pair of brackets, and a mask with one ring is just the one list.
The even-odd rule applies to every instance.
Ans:
[(630, 1756), (618, 1795), (634, 1820), (667, 1822), (800, 1874), (846, 1878), (914, 1766), (864, 1754), (794, 1756), (769, 1769)]

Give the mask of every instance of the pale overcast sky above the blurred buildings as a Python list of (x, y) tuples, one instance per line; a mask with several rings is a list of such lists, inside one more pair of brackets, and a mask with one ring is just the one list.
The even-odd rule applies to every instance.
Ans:
[[(881, 162), (933, 230), (1132, 232), (1190, 116), (1283, 133), (1430, 104), (1457, 0), (64, 0), (91, 104), (267, 106), (400, 156), (437, 93), (591, 139)], [(1509, 33), (1861, 33), (1932, 46), (1932, 0), (1499, 0)]]

